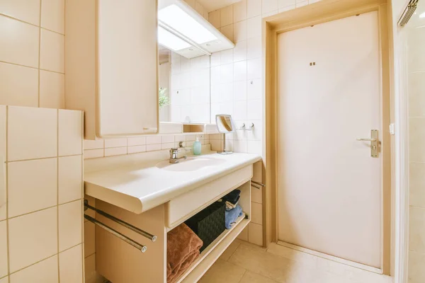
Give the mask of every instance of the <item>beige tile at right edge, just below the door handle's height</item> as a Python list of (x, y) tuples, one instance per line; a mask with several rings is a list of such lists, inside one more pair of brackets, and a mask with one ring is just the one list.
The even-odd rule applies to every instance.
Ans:
[(409, 164), (409, 204), (425, 208), (425, 163)]

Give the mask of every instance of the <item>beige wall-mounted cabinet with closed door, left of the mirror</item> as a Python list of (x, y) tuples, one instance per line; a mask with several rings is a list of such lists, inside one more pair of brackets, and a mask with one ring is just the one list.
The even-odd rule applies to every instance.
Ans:
[(65, 35), (65, 105), (84, 110), (84, 138), (156, 134), (157, 0), (67, 1)]

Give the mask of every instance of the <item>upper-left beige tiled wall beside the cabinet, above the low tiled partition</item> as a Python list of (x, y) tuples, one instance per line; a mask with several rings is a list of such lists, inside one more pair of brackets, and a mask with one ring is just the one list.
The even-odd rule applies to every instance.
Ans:
[(0, 105), (64, 108), (64, 0), (0, 1)]

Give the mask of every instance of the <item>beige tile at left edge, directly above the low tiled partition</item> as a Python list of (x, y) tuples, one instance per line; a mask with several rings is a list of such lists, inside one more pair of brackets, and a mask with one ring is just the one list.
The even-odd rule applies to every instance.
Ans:
[(0, 63), (0, 78), (0, 104), (38, 107), (37, 69)]

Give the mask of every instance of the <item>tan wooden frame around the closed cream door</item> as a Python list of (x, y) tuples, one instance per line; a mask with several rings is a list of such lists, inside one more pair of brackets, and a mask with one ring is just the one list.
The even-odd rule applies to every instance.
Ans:
[(356, 16), (358, 13), (378, 11), (378, 30), (380, 41), (382, 113), (382, 147), (381, 147), (381, 267), (380, 273), (390, 274), (391, 234), (392, 234), (392, 175), (393, 162), (392, 140), (387, 130), (392, 121), (392, 69), (390, 50), (390, 8), (386, 0), (322, 0), (314, 4), (296, 8), (263, 18), (263, 88), (265, 91), (266, 116), (266, 219), (265, 243), (278, 241), (278, 47), (277, 37), (280, 33), (305, 28), (310, 25), (327, 23), (341, 18)]

